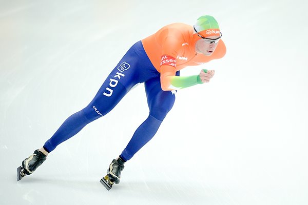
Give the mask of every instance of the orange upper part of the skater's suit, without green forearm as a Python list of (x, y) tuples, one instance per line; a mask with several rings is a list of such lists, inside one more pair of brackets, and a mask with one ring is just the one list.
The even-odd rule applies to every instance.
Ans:
[[(201, 39), (190, 25), (175, 23), (167, 25), (141, 40), (144, 50), (153, 66), (161, 73), (161, 85), (163, 90), (175, 90), (170, 84), (176, 71), (187, 66), (202, 65), (210, 60), (222, 58), (226, 53), (226, 47), (222, 40), (210, 56), (197, 53), (195, 44)], [(176, 59), (174, 64), (166, 65), (165, 59)], [(172, 60), (171, 60), (172, 61)], [(174, 60), (173, 60), (174, 61)]]

